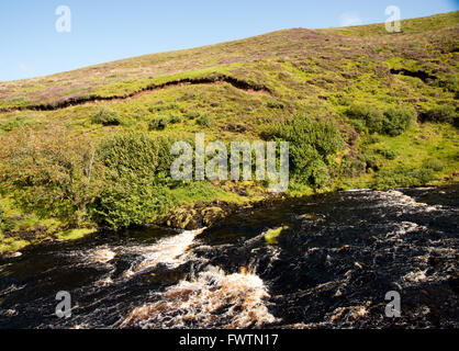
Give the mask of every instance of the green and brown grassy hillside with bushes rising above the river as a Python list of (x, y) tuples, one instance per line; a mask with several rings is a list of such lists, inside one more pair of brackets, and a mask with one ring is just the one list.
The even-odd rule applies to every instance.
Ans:
[(3, 249), (163, 217), (186, 226), (192, 211), (205, 224), (223, 215), (215, 199), (267, 195), (264, 182), (172, 181), (168, 147), (195, 132), (289, 140), (292, 195), (456, 182), (457, 43), (452, 12), (401, 33), (292, 29), (0, 82)]

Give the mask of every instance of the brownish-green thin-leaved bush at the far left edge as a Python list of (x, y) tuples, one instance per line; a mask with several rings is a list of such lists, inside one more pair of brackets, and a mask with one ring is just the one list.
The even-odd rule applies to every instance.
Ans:
[(2, 141), (0, 183), (20, 207), (69, 225), (87, 218), (103, 173), (90, 139), (53, 126), (40, 132), (21, 128)]

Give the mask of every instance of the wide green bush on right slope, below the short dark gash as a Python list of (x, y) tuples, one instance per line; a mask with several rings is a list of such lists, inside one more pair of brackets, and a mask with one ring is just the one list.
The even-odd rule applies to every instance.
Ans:
[(354, 104), (346, 111), (346, 115), (351, 120), (365, 121), (370, 133), (396, 136), (408, 128), (415, 113), (404, 107), (390, 106), (382, 111), (368, 104)]

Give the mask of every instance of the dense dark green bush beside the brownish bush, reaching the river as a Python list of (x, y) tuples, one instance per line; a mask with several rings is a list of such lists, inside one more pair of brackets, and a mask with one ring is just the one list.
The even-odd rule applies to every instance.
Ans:
[(92, 218), (117, 229), (139, 225), (171, 203), (158, 174), (168, 168), (169, 140), (145, 133), (125, 132), (104, 139), (99, 158), (105, 167), (104, 189), (92, 204)]

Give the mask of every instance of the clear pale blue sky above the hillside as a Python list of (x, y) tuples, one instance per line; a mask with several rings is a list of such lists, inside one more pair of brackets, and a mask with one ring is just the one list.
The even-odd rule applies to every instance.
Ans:
[[(0, 81), (280, 29), (384, 22), (391, 4), (402, 19), (459, 9), (458, 0), (1, 0)], [(56, 31), (58, 5), (71, 11), (69, 33)]]

